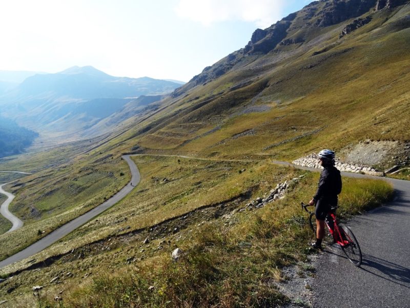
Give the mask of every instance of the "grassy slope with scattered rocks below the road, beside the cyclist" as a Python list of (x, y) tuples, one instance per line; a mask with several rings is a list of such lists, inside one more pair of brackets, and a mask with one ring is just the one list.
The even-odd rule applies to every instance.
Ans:
[[(67, 306), (110, 306), (108, 303), (118, 300), (119, 306), (141, 300), (146, 305), (171, 300), (171, 306), (232, 306), (235, 302), (249, 306), (261, 300), (272, 304), (286, 301), (267, 282), (280, 279), (281, 266), (304, 260), (308, 253), (303, 247), (311, 234), (298, 203), (313, 194), (318, 174), (263, 161), (180, 159), (178, 163), (177, 158), (158, 157), (138, 157), (135, 161), (142, 181), (133, 194), (38, 254), (37, 262), (74, 248), (73, 253), (41, 266), (38, 272), (23, 272), (18, 279), (1, 285), (4, 298), (11, 299), (6, 295), (11, 286), (26, 293), (32, 285), (40, 284), (46, 285), (48, 298), (64, 290)], [(246, 170), (239, 173), (243, 168)], [(179, 177), (162, 182), (170, 172)], [(304, 178), (292, 186), (285, 199), (263, 209), (238, 211), (278, 182), (302, 174)], [(343, 179), (343, 185), (342, 216), (375, 206), (392, 192), (383, 181)], [(241, 195), (245, 197), (235, 200)], [(221, 202), (222, 207), (218, 205)], [(203, 207), (206, 205), (211, 206)], [(222, 211), (218, 215), (227, 213), (230, 218), (218, 218), (218, 210)], [(159, 234), (146, 228), (175, 213), (182, 217), (189, 212), (192, 214), (186, 219), (159, 225)], [(150, 243), (142, 245), (147, 237)], [(87, 244), (91, 242), (94, 244)], [(187, 255), (181, 262), (171, 263), (169, 254), (175, 247), (181, 247)], [(14, 270), (22, 265), (17, 264)], [(107, 274), (107, 270), (117, 274)], [(90, 273), (93, 280), (81, 279)], [(56, 276), (64, 284), (50, 283)], [(78, 287), (80, 281), (84, 282)], [(156, 287), (151, 295), (147, 293), (150, 285)], [(196, 285), (195, 293), (189, 291), (192, 285)], [(20, 296), (13, 302), (27, 304), (27, 300), (33, 299)]]

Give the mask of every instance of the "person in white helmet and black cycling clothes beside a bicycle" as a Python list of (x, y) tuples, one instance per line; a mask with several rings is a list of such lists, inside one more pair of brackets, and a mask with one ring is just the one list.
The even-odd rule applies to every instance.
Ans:
[(335, 167), (334, 151), (321, 150), (318, 156), (323, 171), (320, 174), (316, 195), (309, 202), (309, 205), (316, 204), (316, 242), (311, 245), (316, 249), (321, 249), (324, 237), (324, 221), (332, 206), (337, 205), (337, 195), (342, 190), (342, 179), (340, 171)]

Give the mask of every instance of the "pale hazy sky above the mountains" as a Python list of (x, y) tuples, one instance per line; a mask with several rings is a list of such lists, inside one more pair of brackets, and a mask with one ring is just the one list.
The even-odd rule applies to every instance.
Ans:
[(92, 65), (115, 76), (189, 81), (309, 0), (0, 2), (0, 70)]

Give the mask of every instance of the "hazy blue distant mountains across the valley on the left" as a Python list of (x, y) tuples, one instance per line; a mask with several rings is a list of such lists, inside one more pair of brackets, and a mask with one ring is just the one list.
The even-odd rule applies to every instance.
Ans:
[[(77, 138), (84, 138), (86, 133), (95, 136), (107, 132), (111, 126), (98, 126), (94, 131), (91, 127), (121, 112), (127, 104), (124, 114), (131, 114), (130, 106), (136, 108), (134, 115), (140, 112), (139, 103), (135, 104), (139, 102), (136, 98), (151, 95), (160, 99), (180, 86), (149, 77), (115, 77), (92, 66), (73, 66), (58, 73), (29, 76), (0, 97), (3, 103), (0, 106), (3, 115), (40, 132), (40, 136), (64, 138), (74, 133)], [(92, 108), (98, 110), (94, 112)], [(118, 123), (113, 123), (113, 119), (117, 118), (125, 119), (124, 115), (112, 117), (109, 122), (116, 125)]]

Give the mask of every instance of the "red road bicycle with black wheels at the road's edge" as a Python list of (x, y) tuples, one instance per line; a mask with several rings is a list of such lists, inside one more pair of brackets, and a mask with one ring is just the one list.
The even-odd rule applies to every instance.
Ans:
[[(309, 204), (301, 202), (301, 205), (302, 209), (310, 214), (309, 225), (316, 237), (316, 215), (306, 208), (310, 206)], [(359, 243), (348, 226), (338, 223), (336, 219), (336, 209), (338, 207), (339, 206), (332, 207), (331, 211), (327, 214), (325, 222), (330, 234), (325, 235), (323, 242), (327, 244), (339, 244), (347, 259), (349, 259), (354, 265), (360, 266), (362, 263), (362, 252)]]

